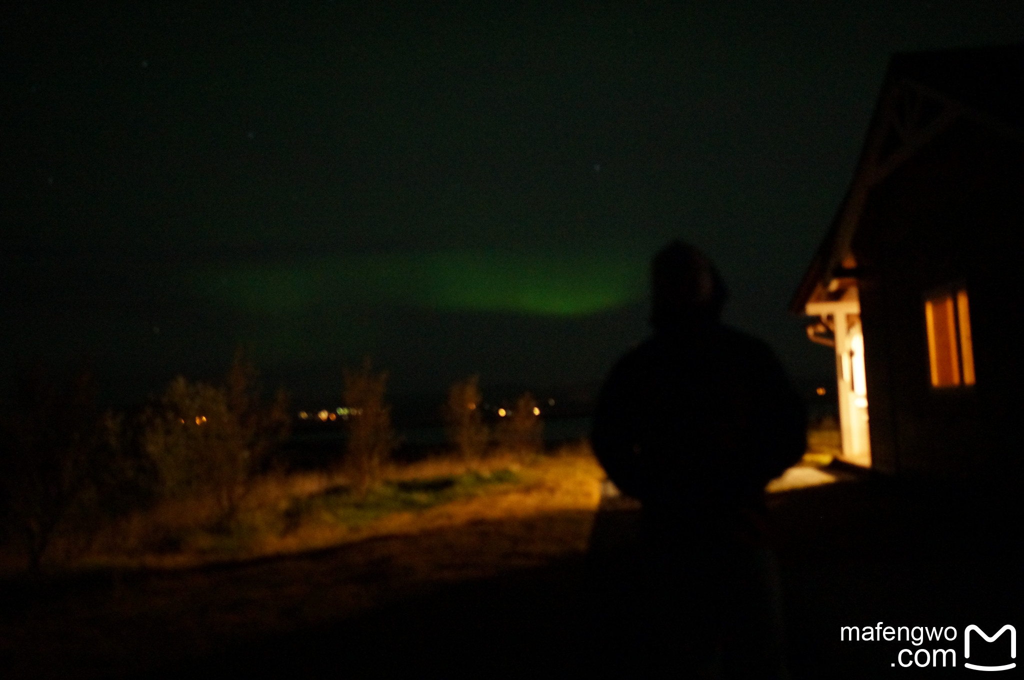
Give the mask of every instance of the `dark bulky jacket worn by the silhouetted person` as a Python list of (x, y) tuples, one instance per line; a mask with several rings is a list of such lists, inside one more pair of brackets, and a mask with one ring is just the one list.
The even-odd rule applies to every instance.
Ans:
[(611, 369), (592, 444), (647, 524), (753, 530), (765, 484), (803, 455), (806, 413), (772, 351), (718, 322), (658, 332)]

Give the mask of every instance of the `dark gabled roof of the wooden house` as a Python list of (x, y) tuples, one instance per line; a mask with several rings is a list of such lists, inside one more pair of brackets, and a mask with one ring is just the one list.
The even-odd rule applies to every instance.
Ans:
[(1024, 140), (1024, 43), (896, 54), (868, 126), (853, 181), (792, 302), (803, 314), (811, 300), (827, 299), (829, 281), (860, 221), (867, 193), (957, 118), (969, 118)]

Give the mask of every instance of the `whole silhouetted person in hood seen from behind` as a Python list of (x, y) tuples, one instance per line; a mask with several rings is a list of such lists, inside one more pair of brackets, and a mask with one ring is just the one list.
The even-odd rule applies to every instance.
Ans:
[(643, 504), (643, 661), (780, 677), (760, 528), (765, 484), (804, 453), (804, 406), (768, 346), (721, 323), (725, 284), (695, 247), (666, 246), (651, 282), (654, 333), (611, 369), (592, 433), (608, 477)]

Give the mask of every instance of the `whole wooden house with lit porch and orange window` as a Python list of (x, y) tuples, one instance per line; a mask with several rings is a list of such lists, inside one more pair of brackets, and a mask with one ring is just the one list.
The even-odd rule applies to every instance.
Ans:
[(843, 457), (1016, 474), (1024, 458), (1024, 45), (892, 58), (792, 303), (836, 350)]

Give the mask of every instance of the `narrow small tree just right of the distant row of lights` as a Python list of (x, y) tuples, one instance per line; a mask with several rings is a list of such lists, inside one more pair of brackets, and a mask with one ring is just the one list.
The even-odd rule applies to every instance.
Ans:
[(359, 495), (378, 482), (384, 463), (396, 445), (391, 407), (384, 402), (387, 372), (374, 373), (370, 359), (362, 367), (344, 371), (344, 401), (348, 407), (348, 445), (345, 467)]

